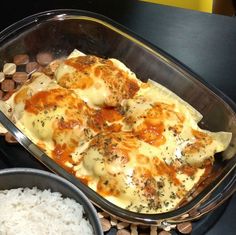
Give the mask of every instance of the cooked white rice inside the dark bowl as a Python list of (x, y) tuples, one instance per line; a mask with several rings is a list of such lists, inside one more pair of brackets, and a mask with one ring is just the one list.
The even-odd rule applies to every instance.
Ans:
[(36, 187), (0, 190), (0, 235), (91, 235), (83, 206)]

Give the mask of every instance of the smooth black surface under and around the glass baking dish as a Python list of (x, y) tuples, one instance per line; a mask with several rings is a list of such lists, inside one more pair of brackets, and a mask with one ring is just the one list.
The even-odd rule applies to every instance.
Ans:
[[(21, 0), (5, 1), (1, 5), (1, 12), (6, 12), (7, 17), (0, 15), (0, 30), (31, 14), (62, 8), (89, 10), (117, 21), (177, 58), (236, 102), (236, 17), (138, 0), (41, 0), (31, 3)], [(35, 167), (45, 170), (26, 151), (24, 156), (17, 155), (20, 146), (3, 145), (2, 141), (0, 138), (1, 169)], [(11, 151), (14, 156), (9, 156)], [(236, 196), (195, 222), (193, 234), (233, 235), (236, 232), (235, 218)]]

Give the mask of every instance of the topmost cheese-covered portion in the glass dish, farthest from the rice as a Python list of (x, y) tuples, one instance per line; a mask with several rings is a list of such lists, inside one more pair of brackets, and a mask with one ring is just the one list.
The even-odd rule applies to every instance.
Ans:
[[(73, 89), (90, 106), (117, 106), (138, 91), (134, 74), (116, 60), (70, 57), (56, 72), (58, 84)], [(95, 95), (96, 94), (96, 95)]]

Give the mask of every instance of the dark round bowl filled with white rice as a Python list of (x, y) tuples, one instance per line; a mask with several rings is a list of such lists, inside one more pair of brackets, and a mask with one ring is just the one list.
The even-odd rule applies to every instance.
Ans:
[(72, 183), (31, 168), (0, 170), (0, 234), (102, 235), (97, 211)]

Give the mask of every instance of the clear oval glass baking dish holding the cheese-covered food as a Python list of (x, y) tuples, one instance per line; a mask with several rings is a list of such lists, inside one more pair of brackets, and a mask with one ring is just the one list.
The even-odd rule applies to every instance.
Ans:
[[(0, 33), (0, 65), (2, 67), (4, 63), (12, 61), (17, 54), (28, 54), (30, 58), (35, 58), (38, 53), (47, 52), (57, 59), (68, 56), (75, 48), (86, 54), (119, 59), (141, 80), (151, 78), (166, 86), (203, 115), (199, 123), (201, 127), (211, 131), (232, 132), (232, 142), (223, 154), (216, 157), (209, 177), (211, 180), (201, 184), (197, 193), (189, 197), (183, 206), (161, 214), (135, 213), (115, 206), (57, 165), (11, 123), (5, 122), (9, 132), (33, 157), (78, 186), (102, 210), (135, 224), (166, 227), (195, 220), (217, 208), (234, 193), (235, 104), (175, 58), (116, 22), (92, 12), (70, 9), (29, 16)], [(8, 154), (14, 157), (14, 152)]]

